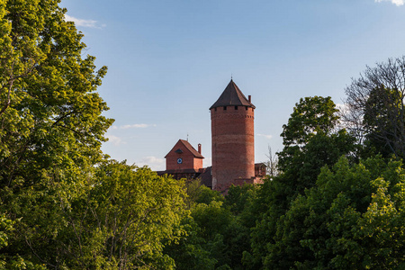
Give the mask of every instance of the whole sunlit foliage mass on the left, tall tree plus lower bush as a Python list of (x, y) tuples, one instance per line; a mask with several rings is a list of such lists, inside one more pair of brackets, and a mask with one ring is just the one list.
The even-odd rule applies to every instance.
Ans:
[(184, 185), (104, 161), (112, 120), (95, 91), (106, 67), (82, 57), (83, 35), (58, 3), (0, 1), (3, 266), (168, 269), (163, 243), (184, 234)]

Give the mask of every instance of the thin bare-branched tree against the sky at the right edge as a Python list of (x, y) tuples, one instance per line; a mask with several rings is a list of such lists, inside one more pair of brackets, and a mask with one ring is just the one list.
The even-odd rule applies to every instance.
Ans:
[(346, 94), (347, 129), (385, 157), (405, 157), (405, 56), (367, 66)]

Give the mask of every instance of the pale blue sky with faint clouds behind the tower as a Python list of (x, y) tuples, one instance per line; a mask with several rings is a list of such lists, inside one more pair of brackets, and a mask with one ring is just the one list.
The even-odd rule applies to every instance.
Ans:
[(178, 139), (202, 143), (209, 108), (228, 85), (252, 95), (256, 162), (301, 97), (331, 96), (365, 66), (405, 54), (404, 0), (62, 0), (85, 53), (108, 67), (99, 93), (115, 119), (103, 152), (165, 169)]

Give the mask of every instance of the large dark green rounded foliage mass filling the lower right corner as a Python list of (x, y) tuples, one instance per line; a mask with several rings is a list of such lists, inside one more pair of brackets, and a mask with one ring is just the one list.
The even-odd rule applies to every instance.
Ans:
[(355, 166), (341, 158), (333, 171), (325, 167), (316, 186), (277, 222), (265, 268), (401, 268), (401, 166), (375, 157)]

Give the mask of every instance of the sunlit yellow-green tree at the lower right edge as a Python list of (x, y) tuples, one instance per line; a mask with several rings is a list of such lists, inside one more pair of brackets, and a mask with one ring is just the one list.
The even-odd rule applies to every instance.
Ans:
[(356, 226), (356, 239), (364, 243), (362, 265), (369, 269), (403, 269), (405, 183), (377, 178), (372, 184), (377, 190)]

